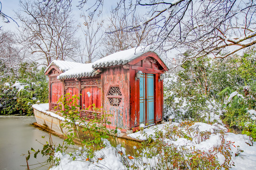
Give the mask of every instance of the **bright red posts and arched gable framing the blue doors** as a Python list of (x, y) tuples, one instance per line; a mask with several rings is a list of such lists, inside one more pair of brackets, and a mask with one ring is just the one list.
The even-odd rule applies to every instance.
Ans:
[[(155, 54), (155, 53), (150, 53)], [(159, 75), (164, 73), (165, 70), (158, 63), (159, 59), (158, 56), (148, 57), (148, 56), (140, 56), (138, 57), (139, 60), (137, 63), (132, 60), (129, 64), (134, 64), (130, 69), (130, 127), (133, 131), (139, 129), (139, 115), (140, 115), (140, 108), (139, 108), (139, 80), (135, 81), (135, 76), (137, 71), (142, 71), (143, 73), (149, 73), (155, 75), (155, 82), (154, 82), (154, 122), (158, 123), (162, 121), (163, 116), (163, 81), (158, 81)], [(136, 59), (135, 59), (136, 60)], [(167, 67), (166, 67), (167, 68)]]

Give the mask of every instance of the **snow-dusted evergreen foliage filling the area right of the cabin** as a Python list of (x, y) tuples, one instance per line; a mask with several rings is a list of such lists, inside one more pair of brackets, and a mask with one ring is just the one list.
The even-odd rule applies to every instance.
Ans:
[(189, 59), (177, 76), (166, 74), (165, 119), (215, 122), (220, 117), (255, 141), (255, 52), (252, 48), (229, 59)]

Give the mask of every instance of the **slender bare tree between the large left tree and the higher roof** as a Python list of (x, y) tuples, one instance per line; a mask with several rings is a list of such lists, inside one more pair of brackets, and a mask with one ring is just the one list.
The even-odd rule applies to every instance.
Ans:
[(79, 50), (82, 63), (91, 63), (99, 54), (99, 48), (102, 46), (102, 26), (103, 20), (92, 19), (89, 17), (82, 16), (84, 23), (82, 25), (82, 33), (84, 35), (82, 40), (82, 49)]

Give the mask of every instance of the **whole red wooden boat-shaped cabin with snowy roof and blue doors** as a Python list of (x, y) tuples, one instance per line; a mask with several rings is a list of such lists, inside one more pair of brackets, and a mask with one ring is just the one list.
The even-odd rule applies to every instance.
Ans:
[[(80, 117), (94, 119), (91, 104), (112, 114), (110, 128), (130, 133), (140, 124), (163, 120), (163, 76), (168, 71), (163, 60), (141, 47), (119, 51), (94, 63), (54, 60), (49, 76), (49, 110), (57, 111), (57, 101), (65, 93), (82, 94)], [(101, 112), (98, 114), (101, 116)]]

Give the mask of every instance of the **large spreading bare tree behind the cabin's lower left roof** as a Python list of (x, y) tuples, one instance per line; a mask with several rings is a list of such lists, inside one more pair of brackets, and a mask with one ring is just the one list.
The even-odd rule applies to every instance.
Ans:
[(78, 40), (74, 37), (77, 27), (71, 11), (55, 6), (45, 6), (36, 1), (20, 1), (22, 12), (16, 13), (22, 22), (19, 43), (33, 56), (46, 61), (49, 65), (53, 59), (74, 59)]

